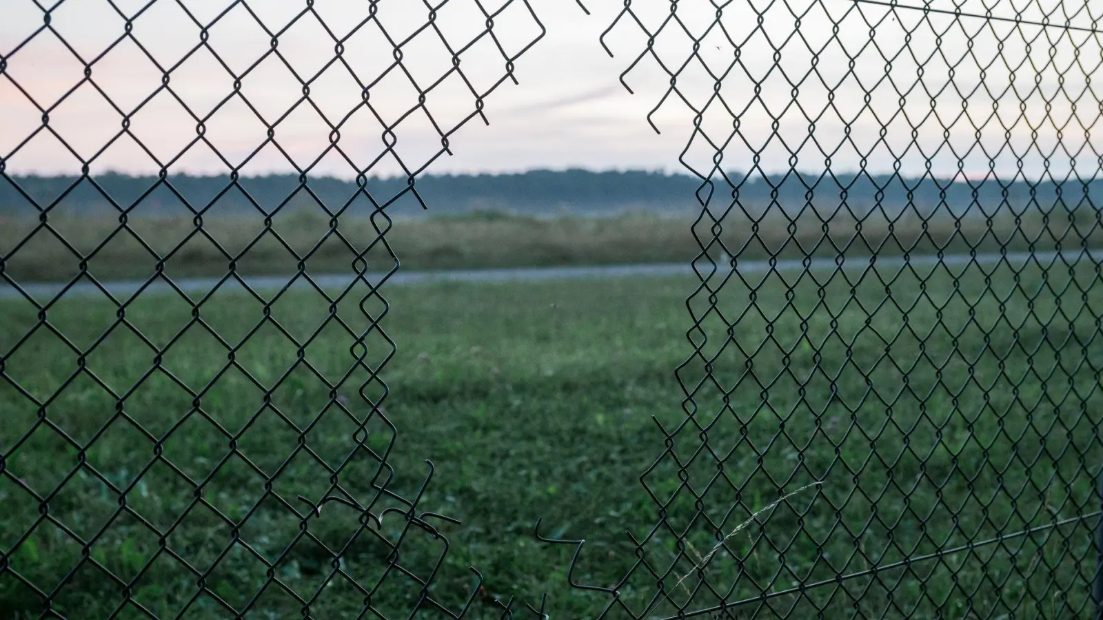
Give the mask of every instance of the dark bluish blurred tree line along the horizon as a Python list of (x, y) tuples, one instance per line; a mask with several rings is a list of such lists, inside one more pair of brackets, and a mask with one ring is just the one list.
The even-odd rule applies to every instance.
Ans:
[[(915, 207), (955, 214), (995, 212), (1007, 206), (1021, 210), (1056, 203), (1099, 209), (1103, 181), (1056, 182), (949, 181), (909, 179), (897, 175), (790, 173), (763, 178), (736, 177), (735, 190), (716, 185), (711, 209), (722, 210), (735, 202), (737, 209), (761, 213), (767, 209), (795, 212), (807, 205), (821, 213), (846, 207), (857, 213), (885, 209), (890, 213)], [(93, 182), (94, 181), (94, 182)], [(364, 190), (384, 202), (407, 186), (401, 178), (368, 178)], [(462, 214), (471, 211), (504, 211), (518, 214), (604, 214), (649, 211), (689, 214), (699, 209), (695, 192), (698, 179), (684, 174), (647, 171), (534, 170), (512, 174), (429, 174), (419, 177), (418, 193), (428, 203), (427, 214)], [(68, 215), (104, 215), (118, 207), (133, 207), (136, 215), (185, 215), (208, 209), (212, 215), (270, 212), (279, 205), (318, 209), (319, 202), (336, 210), (352, 202), (354, 213), (370, 213), (371, 201), (355, 181), (309, 178), (300, 183), (293, 174), (240, 179), (228, 177), (154, 177), (103, 174), (94, 180), (76, 177), (0, 175), (0, 215), (34, 215), (34, 204)], [(25, 194), (25, 195), (24, 195)], [(114, 203), (114, 204), (113, 204)], [(388, 213), (421, 214), (420, 205), (407, 194)]]

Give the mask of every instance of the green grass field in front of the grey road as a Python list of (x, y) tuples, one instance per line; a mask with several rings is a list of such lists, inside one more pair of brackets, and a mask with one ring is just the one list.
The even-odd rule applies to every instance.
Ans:
[[(347, 459), (340, 482), (368, 501), (375, 461), (357, 439), (378, 452), (394, 441), (392, 485), (406, 496), (432, 460), (419, 506), (462, 520), (436, 522), (451, 547), (432, 592), (458, 609), (476, 567), (488, 592), (476, 619), (497, 617), (490, 597), (536, 602), (545, 591), (552, 618), (596, 616), (609, 597), (571, 590), (574, 548), (537, 544), (533, 524), (543, 515), (545, 535), (587, 538), (574, 577), (611, 586), (635, 562), (624, 531), (642, 538), (658, 521), (639, 480), (652, 464), (645, 484), (673, 500), (644, 557), (670, 569), (675, 602), (647, 618), (676, 614), (690, 591), (687, 609), (707, 608), (1099, 509), (1097, 267), (813, 276), (733, 278), (718, 293), (724, 317), (708, 313), (688, 338), (684, 279), (385, 289), (381, 324), (397, 352), (382, 373), (384, 407), (396, 434), (358, 393), (384, 388), (354, 355), (374, 368), (392, 351), (377, 331), (355, 345), (370, 325), (364, 291), (332, 303), (310, 291), (268, 303), (149, 297), (124, 309), (71, 299), (41, 319), (29, 302), (0, 301), (0, 617), (41, 611), (17, 573), (71, 618), (143, 617), (120, 607), (126, 591), (160, 617), (185, 605), (185, 618), (233, 617), (223, 602), (250, 606), (248, 618), (301, 617), (285, 588), (313, 597), (312, 618), (355, 617), (364, 594), (344, 577), (326, 584), (326, 547), (347, 544), (342, 570), (372, 588), (387, 546), (335, 504), (299, 536), (309, 509), (295, 498), (319, 499)], [(690, 302), (698, 316), (705, 297)], [(378, 317), (383, 303), (362, 307)], [(690, 341), (700, 354), (679, 376), (692, 399), (674, 374)], [(674, 434), (668, 451), (652, 416)], [(717, 539), (708, 520), (728, 536), (813, 481), (731, 535), (705, 569), (715, 591), (695, 590), (690, 558)], [(847, 618), (1086, 618), (1094, 526), (777, 596), (735, 617), (823, 607)], [(379, 536), (401, 530), (392, 513)], [(689, 557), (676, 559), (675, 532)], [(410, 530), (401, 563), (425, 576), (441, 545)], [(642, 613), (655, 581), (640, 567), (621, 599)], [(371, 602), (399, 618), (416, 597), (393, 574)]]

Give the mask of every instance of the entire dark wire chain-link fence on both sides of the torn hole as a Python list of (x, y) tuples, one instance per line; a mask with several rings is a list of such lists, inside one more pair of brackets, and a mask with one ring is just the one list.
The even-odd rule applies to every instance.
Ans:
[[(417, 175), (515, 81), (516, 58), (539, 53), (538, 6), (276, 6), (0, 7), (12, 119), (0, 183), (33, 218), (0, 220), (18, 231), (0, 246), (0, 613), (1096, 614), (1103, 15), (1091, 3), (615, 9), (602, 44), (632, 54), (621, 82), (657, 95), (656, 130), (677, 108), (664, 130), (684, 131), (679, 161), (700, 180), (698, 285), (682, 411), (655, 418), (639, 479), (651, 526), (611, 547), (625, 553), (590, 558), (537, 524), (549, 559), (528, 586), (568, 581), (580, 590), (569, 607), (531, 588), (525, 603), (494, 600), (482, 575), (446, 562), (465, 555), (446, 535), (454, 520), (422, 505), (433, 466), (393, 467), (401, 421), (382, 406), (396, 353), (381, 328), (392, 308), (379, 289), (398, 268), (388, 211), (431, 209)], [(71, 29), (97, 36), (71, 44)], [(250, 55), (250, 36), (263, 52)], [(101, 79), (124, 51), (141, 67)], [(404, 62), (415, 53), (418, 71)], [(44, 78), (35, 63), (50, 54), (64, 66)], [(299, 90), (266, 90), (275, 73)], [(342, 96), (317, 95), (338, 82)], [(462, 114), (435, 107), (446, 90), (465, 97)], [(81, 119), (58, 119), (85, 97), (100, 107), (83, 121), (101, 127), (77, 143)], [(255, 117), (256, 148), (219, 141), (239, 129), (218, 125), (231, 107)], [(300, 114), (312, 135), (285, 136)], [(404, 141), (417, 124), (431, 146)], [(159, 177), (113, 191), (97, 162), (119, 149)], [(40, 150), (78, 171), (61, 191), (12, 172)], [(214, 195), (172, 175), (199, 154), (224, 164)], [(298, 183), (254, 199), (258, 161), (292, 167)], [(326, 162), (355, 174), (344, 200), (315, 191)], [(408, 183), (379, 195), (372, 175), (388, 165)], [(756, 183), (764, 204), (747, 199)], [(63, 213), (81, 192), (117, 225), (89, 238)], [(229, 199), (255, 224), (236, 244), (207, 223)], [(185, 210), (189, 226), (153, 240), (138, 217), (152, 203)], [(290, 238), (301, 204), (325, 218), (304, 245)], [(354, 216), (371, 226), (349, 234)], [(181, 286), (197, 246), (228, 268)], [(261, 247), (292, 274), (274, 290), (238, 272)], [(135, 253), (144, 275), (115, 281)], [(317, 277), (322, 255), (347, 278)], [(39, 286), (41, 264), (69, 270)]]

